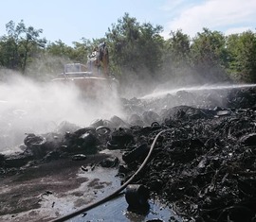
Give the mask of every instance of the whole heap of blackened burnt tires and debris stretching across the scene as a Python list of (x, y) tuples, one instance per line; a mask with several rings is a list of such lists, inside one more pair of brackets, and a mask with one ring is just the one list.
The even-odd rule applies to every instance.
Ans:
[[(27, 134), (23, 152), (1, 155), (1, 176), (29, 162), (82, 160), (104, 149), (120, 150), (100, 162), (129, 179), (158, 138), (135, 183), (188, 221), (255, 221), (256, 90), (178, 92), (155, 99), (123, 99), (126, 120), (114, 116), (88, 128), (62, 124), (56, 132)], [(254, 219), (254, 220), (253, 220)]]

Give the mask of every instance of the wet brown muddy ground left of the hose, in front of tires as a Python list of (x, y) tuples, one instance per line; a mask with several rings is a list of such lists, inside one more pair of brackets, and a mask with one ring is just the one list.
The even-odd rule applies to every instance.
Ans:
[(95, 201), (102, 189), (113, 187), (114, 175), (107, 179), (101, 177), (106, 172), (92, 174), (105, 157), (96, 154), (81, 162), (66, 158), (12, 169), (0, 180), (1, 220), (49, 221)]

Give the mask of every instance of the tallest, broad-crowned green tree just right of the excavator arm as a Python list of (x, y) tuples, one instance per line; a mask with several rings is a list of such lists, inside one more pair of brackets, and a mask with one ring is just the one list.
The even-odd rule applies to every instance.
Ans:
[(140, 25), (136, 18), (125, 13), (118, 24), (112, 25), (106, 33), (114, 70), (118, 70), (119, 74), (128, 71), (138, 76), (143, 69), (154, 76), (161, 62), (161, 31), (162, 26), (154, 27), (150, 23)]

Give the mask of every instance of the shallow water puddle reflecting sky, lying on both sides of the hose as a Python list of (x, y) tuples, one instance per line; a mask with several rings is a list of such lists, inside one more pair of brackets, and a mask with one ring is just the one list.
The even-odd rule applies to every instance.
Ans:
[[(84, 174), (84, 177), (91, 181), (92, 179), (97, 178), (96, 175), (99, 176), (99, 182), (107, 183), (103, 189), (97, 190), (97, 186), (92, 186), (91, 189), (97, 191), (97, 196), (93, 200), (93, 202), (100, 200), (101, 198), (112, 194), (114, 191), (119, 189), (120, 179), (115, 177), (118, 173), (116, 169), (104, 169), (104, 168), (96, 168), (95, 171)], [(78, 175), (79, 177), (83, 177), (83, 174)], [(88, 189), (88, 183), (86, 183)], [(82, 187), (80, 187), (81, 190)], [(86, 190), (84, 187), (84, 191)], [(125, 192), (125, 190), (124, 190)], [(149, 210), (147, 213), (132, 213), (128, 211), (128, 203), (125, 200), (125, 196), (118, 196), (110, 201), (107, 201), (100, 206), (97, 206), (87, 212), (84, 212), (80, 215), (69, 219), (68, 221), (73, 222), (84, 222), (84, 221), (126, 221), (126, 222), (140, 222), (140, 221), (148, 221), (152, 219), (161, 219), (163, 221), (169, 221), (173, 216), (176, 221), (182, 221), (171, 209), (158, 201), (149, 200)], [(83, 206), (84, 207), (84, 206)], [(72, 209), (72, 208), (71, 208)], [(67, 210), (67, 209), (66, 209)], [(70, 208), (68, 211), (70, 212)]]

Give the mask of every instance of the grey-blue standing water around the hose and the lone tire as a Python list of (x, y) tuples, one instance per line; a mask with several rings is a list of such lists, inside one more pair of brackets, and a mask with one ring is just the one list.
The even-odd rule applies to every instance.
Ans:
[[(83, 183), (77, 191), (72, 191), (72, 193), (84, 191), (83, 196), (77, 197), (74, 202), (82, 208), (86, 204), (91, 204), (96, 202), (101, 198), (110, 195), (114, 191), (119, 189), (120, 179), (116, 176), (118, 174), (117, 169), (105, 169), (97, 167), (94, 171), (81, 173), (78, 176), (80, 178), (86, 177), (87, 182)], [(151, 221), (153, 219), (158, 219), (159, 221), (170, 221), (170, 218), (174, 218), (174, 221), (181, 221), (179, 217), (167, 206), (161, 204), (159, 201), (153, 199), (149, 200), (149, 209), (144, 213), (133, 213), (128, 211), (128, 203), (125, 200), (125, 190), (124, 192), (100, 206), (97, 206), (87, 212), (69, 219), (68, 221), (74, 222), (84, 222), (84, 221), (127, 221), (127, 222), (140, 222), (140, 221)], [(85, 197), (85, 198), (84, 198)], [(53, 201), (53, 199), (49, 199)], [(75, 205), (76, 205), (75, 204)], [(58, 207), (58, 204), (55, 206)], [(61, 201), (59, 209), (62, 209), (61, 214), (73, 213), (79, 208), (74, 209), (70, 204), (65, 205), (64, 201)], [(65, 212), (65, 213), (64, 213)]]

